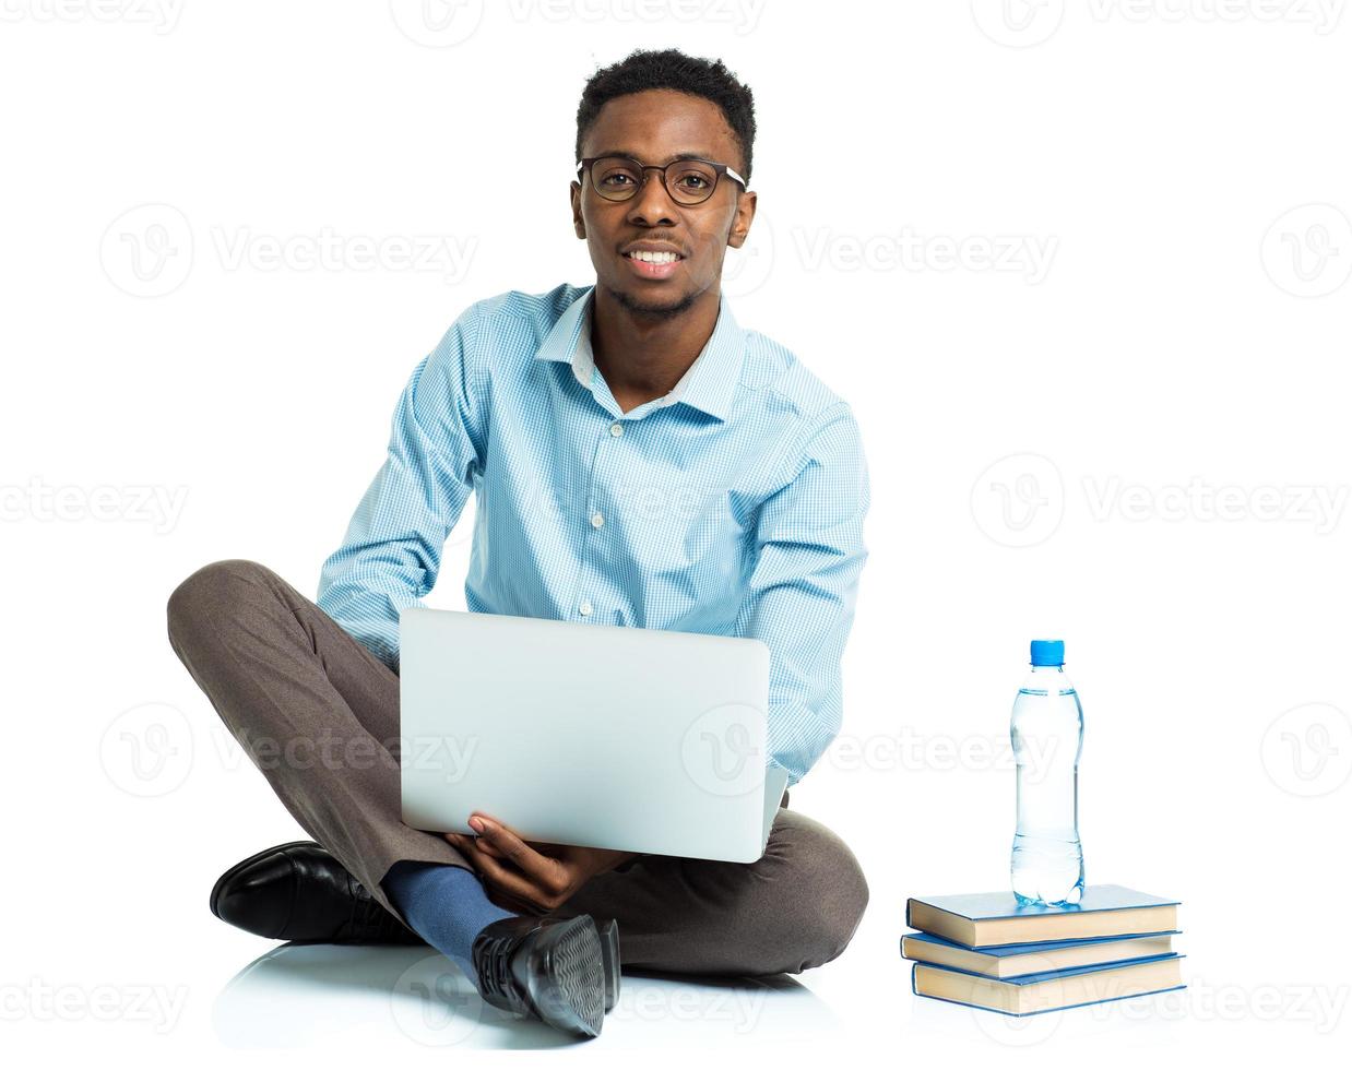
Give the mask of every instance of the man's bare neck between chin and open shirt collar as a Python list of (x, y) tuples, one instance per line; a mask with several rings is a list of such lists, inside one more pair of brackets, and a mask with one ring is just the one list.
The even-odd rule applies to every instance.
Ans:
[(623, 412), (662, 397), (680, 382), (714, 334), (719, 290), (711, 286), (676, 309), (648, 312), (604, 289), (592, 292), (592, 359)]

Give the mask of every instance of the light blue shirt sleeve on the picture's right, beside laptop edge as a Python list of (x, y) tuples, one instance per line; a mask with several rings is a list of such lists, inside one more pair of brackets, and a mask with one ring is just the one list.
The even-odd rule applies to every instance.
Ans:
[(853, 413), (831, 407), (767, 499), (740, 634), (771, 651), (767, 765), (803, 778), (841, 728), (841, 655), (868, 558), (868, 465)]

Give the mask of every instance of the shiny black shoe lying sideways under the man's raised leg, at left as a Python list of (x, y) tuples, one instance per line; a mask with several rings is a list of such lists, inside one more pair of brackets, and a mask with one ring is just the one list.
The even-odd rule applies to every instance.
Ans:
[(423, 943), (312, 840), (269, 847), (227, 869), (211, 889), (211, 912), (270, 940)]

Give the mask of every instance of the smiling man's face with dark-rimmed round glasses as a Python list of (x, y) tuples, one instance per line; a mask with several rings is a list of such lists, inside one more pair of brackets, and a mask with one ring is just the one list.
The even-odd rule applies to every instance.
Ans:
[[(673, 89), (648, 89), (606, 104), (583, 141), (583, 155), (617, 151), (639, 163), (667, 163), (695, 153), (745, 174), (733, 131), (717, 104)], [(675, 174), (675, 172), (673, 172)], [(740, 247), (756, 213), (756, 195), (726, 174), (702, 204), (673, 200), (657, 172), (626, 201), (610, 201), (583, 176), (573, 182), (573, 227), (587, 239), (596, 286), (631, 312), (669, 317), (684, 312), (723, 272), (723, 253)], [(645, 272), (625, 255), (633, 242), (673, 246), (681, 259), (661, 273)]]

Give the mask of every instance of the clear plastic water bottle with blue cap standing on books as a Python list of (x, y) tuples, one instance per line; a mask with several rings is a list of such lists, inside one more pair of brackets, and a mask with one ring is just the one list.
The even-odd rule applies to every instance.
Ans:
[(1065, 643), (1034, 639), (1030, 653), (1033, 671), (1010, 717), (1018, 778), (1010, 874), (1019, 904), (1068, 905), (1084, 892), (1076, 802), (1084, 711), (1065, 676)]

